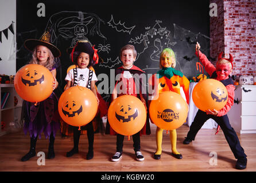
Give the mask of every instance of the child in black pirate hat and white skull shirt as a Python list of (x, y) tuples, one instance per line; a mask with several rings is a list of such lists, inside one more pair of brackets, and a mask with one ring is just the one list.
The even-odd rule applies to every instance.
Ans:
[[(97, 91), (95, 82), (98, 81), (94, 71), (88, 69), (95, 63), (98, 63), (98, 54), (94, 47), (87, 40), (77, 41), (76, 45), (73, 47), (71, 53), (72, 62), (75, 62), (78, 67), (69, 70), (65, 80), (67, 81), (67, 90), (71, 86), (83, 86), (88, 87), (95, 94), (97, 100)], [(99, 100), (98, 100), (99, 104)], [(77, 126), (72, 126), (73, 128), (73, 149), (67, 152), (67, 157), (73, 156), (73, 154), (78, 153), (78, 144), (81, 134), (81, 130)], [(94, 157), (94, 128), (92, 126), (92, 121), (87, 125), (81, 127), (82, 130), (87, 130), (88, 137), (88, 153), (86, 156), (87, 160), (91, 160)]]

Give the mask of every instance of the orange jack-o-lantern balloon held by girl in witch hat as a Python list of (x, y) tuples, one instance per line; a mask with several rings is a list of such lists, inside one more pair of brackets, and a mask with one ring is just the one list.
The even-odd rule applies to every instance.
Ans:
[(25, 101), (40, 102), (51, 96), (53, 81), (53, 75), (46, 67), (28, 64), (17, 71), (14, 87)]

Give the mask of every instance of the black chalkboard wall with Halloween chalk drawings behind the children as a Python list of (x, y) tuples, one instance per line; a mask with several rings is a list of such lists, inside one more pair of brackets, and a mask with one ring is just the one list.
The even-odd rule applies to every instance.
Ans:
[[(51, 27), (52, 43), (61, 51), (61, 69), (57, 73), (61, 87), (65, 85), (67, 68), (72, 65), (66, 50), (82, 38), (89, 39), (98, 49), (96, 75), (110, 74), (110, 69), (121, 66), (119, 50), (130, 43), (138, 52), (134, 65), (146, 73), (159, 70), (159, 53), (170, 47), (176, 53), (176, 69), (190, 79), (200, 73), (196, 70), (196, 41), (203, 53), (210, 53), (209, 10), (209, 1), (205, 0), (17, 0), (17, 70), (31, 56), (24, 41), (40, 38), (46, 27)], [(43, 13), (45, 17), (40, 17)]]

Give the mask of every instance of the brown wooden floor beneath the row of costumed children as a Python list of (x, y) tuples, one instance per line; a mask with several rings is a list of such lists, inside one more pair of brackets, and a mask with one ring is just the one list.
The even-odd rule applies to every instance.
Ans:
[[(222, 130), (215, 135), (216, 129), (201, 129), (196, 136), (196, 140), (189, 145), (182, 142), (187, 136), (188, 126), (183, 125), (177, 129), (177, 149), (183, 154), (182, 160), (177, 160), (170, 154), (169, 135), (164, 131), (162, 142), (161, 160), (154, 160), (153, 154), (156, 150), (156, 128), (152, 125), (152, 134), (141, 137), (141, 152), (145, 161), (135, 160), (133, 151), (133, 141), (124, 141), (123, 157), (119, 162), (112, 162), (111, 156), (115, 153), (115, 136), (95, 134), (94, 158), (86, 160), (88, 148), (87, 136), (80, 138), (79, 154), (73, 157), (65, 157), (66, 152), (72, 149), (73, 138), (61, 138), (57, 135), (55, 140), (56, 157), (52, 160), (45, 160), (45, 165), (37, 165), (35, 156), (29, 161), (21, 162), (20, 159), (29, 150), (29, 136), (24, 133), (11, 133), (0, 137), (0, 171), (26, 172), (26, 171), (85, 171), (85, 172), (232, 172), (232, 171), (256, 171), (256, 134), (238, 134), (239, 140), (245, 153), (247, 154), (247, 168), (236, 170), (235, 158), (224, 138)], [(36, 151), (48, 152), (48, 140), (42, 136), (37, 141)], [(218, 155), (217, 165), (211, 165), (210, 153), (216, 152)], [(216, 162), (216, 161), (215, 161)]]

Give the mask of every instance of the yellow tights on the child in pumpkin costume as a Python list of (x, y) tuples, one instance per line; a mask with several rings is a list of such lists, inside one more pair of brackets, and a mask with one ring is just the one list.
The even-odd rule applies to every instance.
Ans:
[[(164, 129), (158, 128), (156, 131), (157, 151), (155, 154), (161, 155), (162, 153), (162, 131)], [(177, 133), (176, 130), (170, 130), (170, 144), (172, 145), (172, 153), (180, 154), (176, 149)]]

